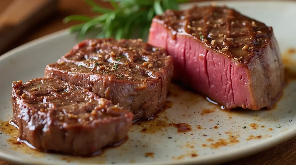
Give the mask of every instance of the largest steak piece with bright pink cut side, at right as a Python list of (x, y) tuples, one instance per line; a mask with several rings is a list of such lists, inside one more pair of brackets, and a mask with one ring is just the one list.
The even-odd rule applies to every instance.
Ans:
[(173, 57), (173, 80), (226, 108), (272, 107), (284, 68), (272, 27), (227, 7), (167, 10), (151, 24), (148, 43)]

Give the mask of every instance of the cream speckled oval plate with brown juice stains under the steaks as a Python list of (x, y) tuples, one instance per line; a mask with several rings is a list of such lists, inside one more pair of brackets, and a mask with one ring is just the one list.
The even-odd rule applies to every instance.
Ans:
[[(296, 3), (217, 4), (227, 4), (273, 26), (283, 53), (296, 47)], [(42, 77), (46, 64), (55, 62), (77, 42), (76, 35), (63, 30), (0, 56), (1, 159), (21, 164), (217, 164), (254, 154), (296, 136), (296, 81), (289, 81), (272, 110), (233, 112), (222, 111), (205, 98), (172, 85), (166, 109), (153, 120), (135, 123), (128, 140), (119, 147), (108, 148), (92, 158), (34, 151), (15, 141), (17, 130), (7, 124), (12, 117), (11, 83)], [(284, 55), (284, 58), (296, 63), (296, 55)]]

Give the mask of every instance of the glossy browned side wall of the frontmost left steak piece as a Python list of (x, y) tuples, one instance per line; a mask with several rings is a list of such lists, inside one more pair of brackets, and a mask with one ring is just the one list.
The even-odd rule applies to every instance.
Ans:
[[(44, 78), (34, 80), (41, 79)], [(21, 80), (12, 84), (12, 120), (19, 127), (19, 138), (28, 141), (38, 150), (75, 156), (91, 156), (104, 146), (112, 145), (126, 138), (132, 125), (133, 115), (126, 110), (123, 110), (125, 115), (112, 118), (112, 122), (110, 120), (93, 120), (89, 124), (83, 122), (64, 125), (66, 122), (60, 122), (54, 118), (51, 115), (51, 110), (45, 114), (40, 113), (40, 110), (33, 113), (34, 110), (30, 107), (30, 103), (22, 98), (24, 85), (26, 84), (22, 84)], [(100, 138), (102, 135), (105, 138)]]

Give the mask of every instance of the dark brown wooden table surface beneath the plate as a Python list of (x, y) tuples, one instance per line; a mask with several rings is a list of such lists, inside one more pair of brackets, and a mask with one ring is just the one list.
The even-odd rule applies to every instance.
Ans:
[[(12, 0), (1, 0), (0, 1), (0, 13), (9, 5)], [(75, 2), (74, 2), (75, 1)], [(95, 0), (102, 6), (110, 7), (107, 2), (101, 2), (100, 0)], [(200, 1), (200, 0), (192, 0)], [(32, 30), (28, 31), (23, 37), (21, 37), (17, 42), (12, 44), (8, 49), (13, 49), (19, 45), (27, 43), (36, 38), (48, 35), (52, 32), (65, 29), (77, 22), (70, 22), (68, 24), (63, 24), (62, 19), (68, 15), (72, 14), (83, 14), (88, 16), (93, 16), (93, 13), (89, 10), (89, 6), (84, 3), (83, 0), (60, 0), (59, 1), (59, 11), (55, 13), (51, 18), (44, 20), (42, 23), (38, 23)], [(270, 164), (285, 164), (285, 165), (295, 165), (296, 164), (296, 138), (271, 148), (262, 153), (248, 156), (243, 159), (225, 163), (225, 165), (236, 165), (236, 164), (252, 164), (252, 165), (270, 165)], [(6, 161), (0, 160), (0, 165), (12, 165)]]

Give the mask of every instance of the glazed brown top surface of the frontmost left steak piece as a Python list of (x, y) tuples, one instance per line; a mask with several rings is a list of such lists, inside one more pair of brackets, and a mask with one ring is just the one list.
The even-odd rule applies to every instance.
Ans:
[(25, 84), (19, 80), (12, 88), (12, 98), (22, 106), (20, 117), (28, 121), (51, 120), (67, 127), (132, 115), (109, 100), (57, 78), (38, 78)]

